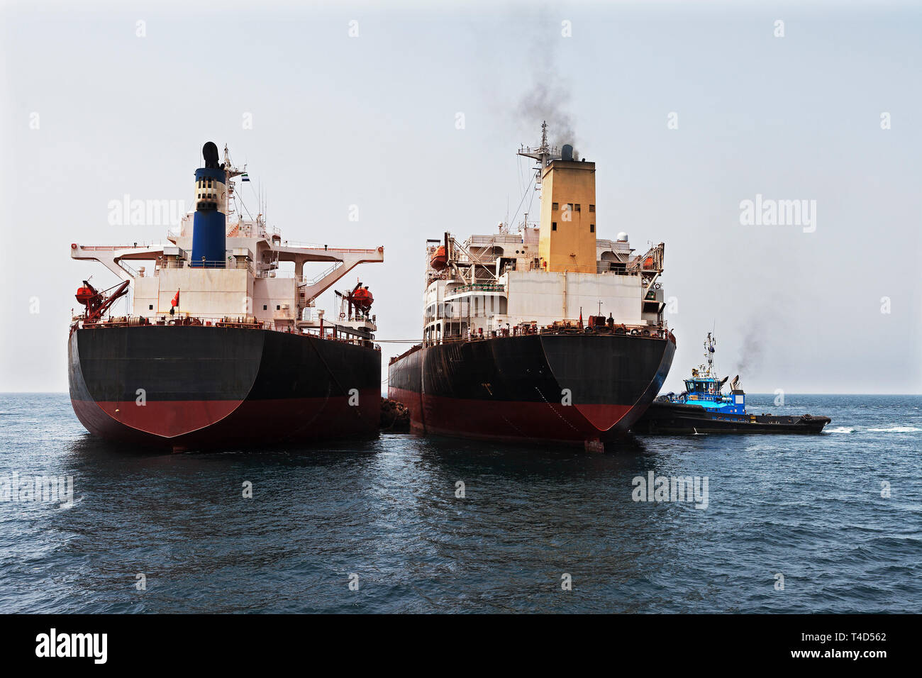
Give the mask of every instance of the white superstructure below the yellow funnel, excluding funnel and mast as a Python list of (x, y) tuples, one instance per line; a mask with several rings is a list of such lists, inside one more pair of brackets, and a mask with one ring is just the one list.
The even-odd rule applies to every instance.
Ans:
[[(623, 235), (623, 234), (620, 234)], [(460, 246), (448, 233), (454, 261), (441, 270), (431, 261), (445, 245), (426, 246), (424, 335), (431, 342), (490, 336), (514, 327), (579, 323), (582, 315), (609, 315), (626, 327), (661, 327), (664, 244), (633, 255), (627, 236), (598, 239), (597, 272), (548, 271), (538, 259), (538, 227), (516, 233), (472, 235)]]

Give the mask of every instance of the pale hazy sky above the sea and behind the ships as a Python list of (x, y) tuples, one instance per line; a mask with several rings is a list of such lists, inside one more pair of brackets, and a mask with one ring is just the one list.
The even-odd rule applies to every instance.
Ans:
[[(495, 232), (542, 118), (597, 162), (599, 237), (666, 243), (669, 389), (716, 327), (751, 392), (922, 391), (917, 4), (127, 6), (0, 14), (0, 391), (66, 390), (77, 286), (115, 281), (70, 243), (163, 242), (109, 202), (190, 205), (207, 140), (284, 237), (383, 244), (359, 269), (378, 336), (419, 337), (425, 239)], [(741, 224), (757, 195), (815, 200), (815, 232)]]

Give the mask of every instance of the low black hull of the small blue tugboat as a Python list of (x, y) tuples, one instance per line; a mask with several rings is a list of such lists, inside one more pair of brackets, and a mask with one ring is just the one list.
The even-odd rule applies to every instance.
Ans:
[(721, 414), (701, 405), (654, 401), (634, 423), (636, 434), (819, 434), (829, 417)]

